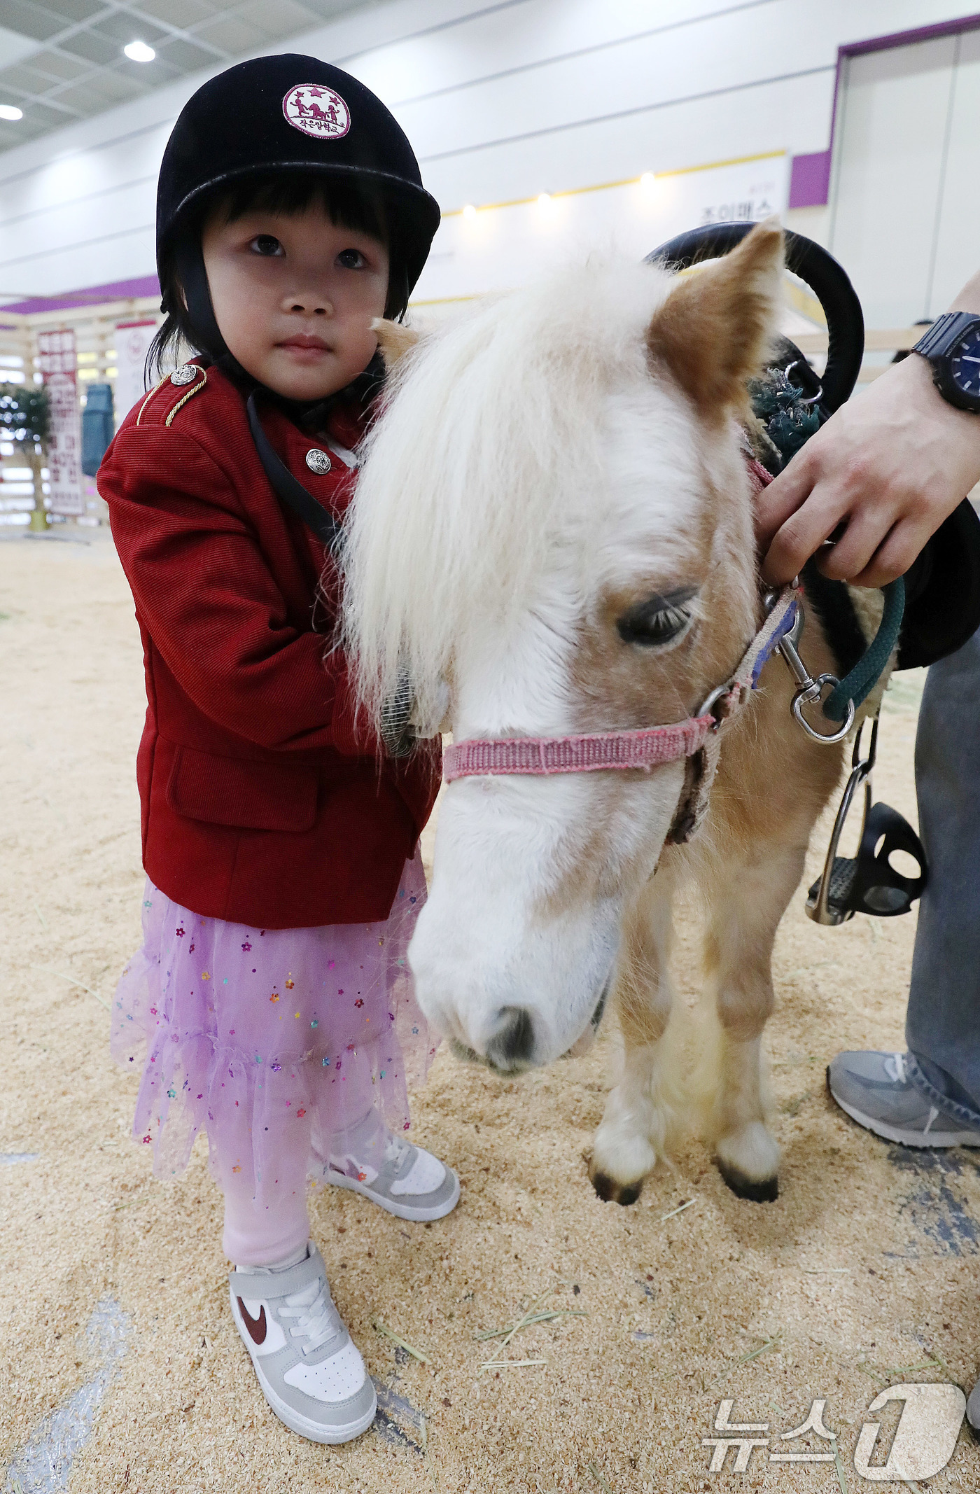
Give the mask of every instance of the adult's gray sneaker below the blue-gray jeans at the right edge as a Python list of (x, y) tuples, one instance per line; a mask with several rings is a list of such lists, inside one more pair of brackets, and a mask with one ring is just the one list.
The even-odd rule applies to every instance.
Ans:
[(852, 1120), (901, 1146), (980, 1146), (980, 1129), (932, 1104), (908, 1077), (904, 1053), (838, 1053), (828, 1089)]

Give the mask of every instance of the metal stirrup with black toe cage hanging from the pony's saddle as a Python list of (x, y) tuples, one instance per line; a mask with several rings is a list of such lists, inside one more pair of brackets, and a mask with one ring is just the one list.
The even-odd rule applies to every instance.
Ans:
[[(814, 923), (837, 926), (853, 919), (855, 913), (868, 913), (878, 919), (898, 917), (899, 913), (911, 911), (913, 902), (926, 884), (926, 853), (908, 820), (887, 804), (871, 802), (871, 769), (878, 746), (877, 716), (871, 723), (871, 744), (866, 757), (860, 756), (862, 735), (863, 722), (855, 740), (852, 774), (834, 820), (834, 834), (828, 846), (823, 872), (807, 895), (807, 914)], [(837, 847), (844, 822), (855, 795), (862, 786), (865, 808), (858, 855), (855, 858), (838, 856)], [(908, 852), (914, 858), (919, 864), (917, 877), (902, 877), (889, 864), (889, 856), (896, 850)]]

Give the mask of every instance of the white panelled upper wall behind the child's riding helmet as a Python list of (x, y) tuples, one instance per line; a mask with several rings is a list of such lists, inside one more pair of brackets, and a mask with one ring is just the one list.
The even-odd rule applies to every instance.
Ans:
[[(974, 0), (390, 0), (296, 37), (391, 106), (447, 211), (825, 149), (837, 48)], [(154, 269), (155, 175), (205, 73), (0, 155), (0, 293)], [(807, 221), (820, 232), (820, 214)], [(899, 220), (901, 221), (901, 220)]]

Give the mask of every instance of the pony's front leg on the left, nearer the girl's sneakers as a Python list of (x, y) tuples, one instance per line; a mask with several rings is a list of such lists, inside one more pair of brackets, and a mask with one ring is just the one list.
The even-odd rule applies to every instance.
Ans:
[(589, 1177), (599, 1198), (632, 1204), (644, 1177), (666, 1152), (680, 1103), (677, 1065), (663, 1041), (674, 991), (671, 871), (660, 867), (623, 919), (614, 1001), (623, 1041), (623, 1073), (596, 1131)]

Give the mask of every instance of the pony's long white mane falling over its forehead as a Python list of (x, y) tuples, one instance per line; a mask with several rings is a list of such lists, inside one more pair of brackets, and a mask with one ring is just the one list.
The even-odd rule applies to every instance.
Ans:
[(378, 719), (408, 671), (436, 728), (474, 626), (527, 598), (574, 505), (601, 487), (601, 412), (648, 374), (671, 279), (632, 261), (487, 297), (396, 366), (345, 521), (344, 645)]

